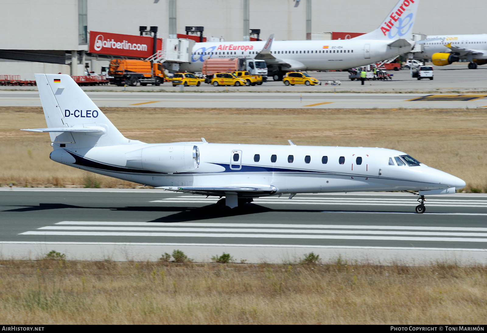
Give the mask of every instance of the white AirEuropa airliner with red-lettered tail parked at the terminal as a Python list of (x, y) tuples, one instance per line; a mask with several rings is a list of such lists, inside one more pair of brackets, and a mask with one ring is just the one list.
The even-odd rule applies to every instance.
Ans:
[(340, 70), (364, 66), (412, 50), (412, 27), (419, 0), (399, 0), (373, 32), (344, 40), (273, 40), (195, 43), (191, 62), (180, 69), (200, 72), (208, 58), (264, 60), (270, 76), (281, 80), (289, 71)]

